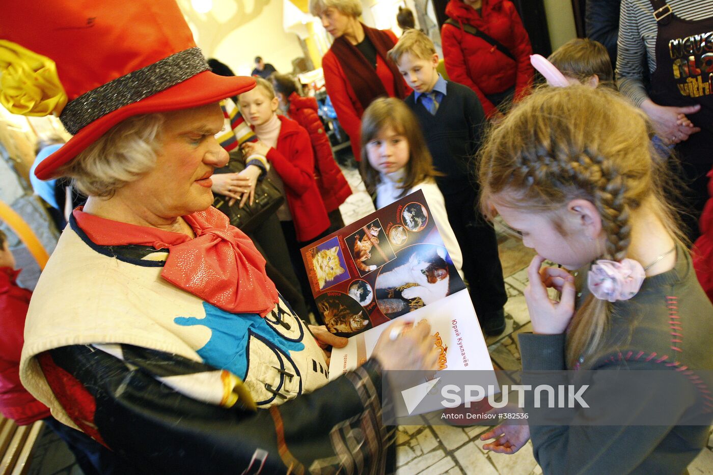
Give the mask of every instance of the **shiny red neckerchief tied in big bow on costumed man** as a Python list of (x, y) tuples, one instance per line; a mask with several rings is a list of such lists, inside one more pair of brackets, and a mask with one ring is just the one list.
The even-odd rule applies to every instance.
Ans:
[(143, 245), (168, 249), (161, 277), (205, 302), (232, 313), (265, 317), (278, 300), (265, 273), (265, 259), (241, 230), (212, 206), (183, 216), (195, 238), (156, 228), (73, 212), (77, 225), (97, 245)]

